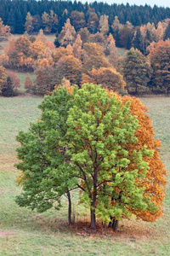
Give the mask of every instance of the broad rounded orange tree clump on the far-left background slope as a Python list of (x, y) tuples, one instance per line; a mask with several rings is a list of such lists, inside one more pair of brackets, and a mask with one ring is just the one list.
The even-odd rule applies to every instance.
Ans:
[[(37, 39), (31, 42), (26, 36), (11, 38), (8, 46), (4, 49), (2, 63), (9, 68), (20, 68), (33, 71), (37, 68), (37, 62), (46, 58), (51, 63), (52, 53), (55, 49), (53, 43), (48, 42), (42, 30), (38, 33)], [(6, 58), (5, 58), (6, 56)]]

